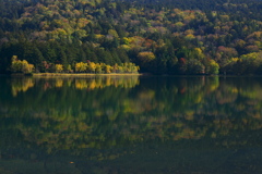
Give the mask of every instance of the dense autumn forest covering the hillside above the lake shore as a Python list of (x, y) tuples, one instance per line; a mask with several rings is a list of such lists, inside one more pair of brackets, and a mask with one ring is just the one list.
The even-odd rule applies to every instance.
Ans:
[(261, 75), (261, 0), (0, 0), (0, 73)]

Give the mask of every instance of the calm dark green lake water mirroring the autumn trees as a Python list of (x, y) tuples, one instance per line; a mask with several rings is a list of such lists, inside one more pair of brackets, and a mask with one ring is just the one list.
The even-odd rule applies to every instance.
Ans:
[(2, 174), (260, 174), (262, 78), (0, 78)]

